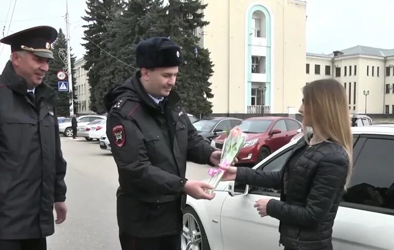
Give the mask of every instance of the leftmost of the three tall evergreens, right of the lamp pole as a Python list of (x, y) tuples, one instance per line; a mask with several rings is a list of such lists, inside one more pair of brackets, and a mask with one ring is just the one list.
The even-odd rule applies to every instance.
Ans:
[[(107, 34), (107, 24), (116, 19), (122, 11), (124, 11), (123, 0), (87, 0), (86, 16), (83, 20), (88, 22), (84, 31), (86, 43), (83, 46), (86, 49), (84, 58), (86, 64), (84, 69), (88, 71), (90, 86), (90, 110), (98, 113), (98, 107), (101, 106), (103, 96), (100, 95), (101, 85), (103, 83), (103, 72), (108, 67), (105, 64), (107, 46), (104, 43)], [(102, 49), (100, 49), (100, 48)], [(100, 110), (102, 111), (102, 110)]]

